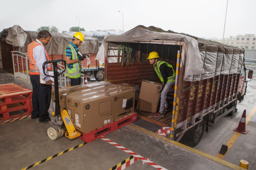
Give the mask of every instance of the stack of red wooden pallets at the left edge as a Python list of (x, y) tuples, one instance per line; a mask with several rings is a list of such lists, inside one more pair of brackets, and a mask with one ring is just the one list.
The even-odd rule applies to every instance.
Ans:
[[(29, 115), (32, 112), (32, 90), (15, 83), (0, 85), (0, 120)], [(25, 110), (25, 113), (10, 115), (10, 112)]]

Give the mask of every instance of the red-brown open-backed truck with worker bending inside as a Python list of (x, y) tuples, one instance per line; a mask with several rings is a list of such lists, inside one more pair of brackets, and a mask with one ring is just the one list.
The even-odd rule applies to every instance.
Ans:
[(154, 72), (147, 60), (152, 51), (176, 70), (175, 87), (167, 96), (173, 107), (161, 118), (135, 112), (149, 122), (173, 127), (169, 138), (195, 147), (209, 122), (233, 115), (237, 102), (243, 100), (253, 74), (244, 65), (244, 49), (154, 26), (137, 26), (125, 34), (105, 37), (96, 59), (105, 61), (105, 81), (140, 85)]

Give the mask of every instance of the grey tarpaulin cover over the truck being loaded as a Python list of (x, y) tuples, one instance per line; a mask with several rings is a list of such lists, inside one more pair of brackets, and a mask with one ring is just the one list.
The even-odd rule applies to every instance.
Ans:
[[(122, 35), (110, 34), (105, 37), (96, 59), (104, 62), (106, 42), (136, 42), (151, 40), (182, 41), (185, 43), (185, 81), (200, 81), (219, 74), (240, 73), (244, 50), (217, 42), (164, 31), (154, 26), (137, 26)], [(152, 42), (154, 43), (154, 42)], [(153, 50), (153, 49), (152, 49)]]

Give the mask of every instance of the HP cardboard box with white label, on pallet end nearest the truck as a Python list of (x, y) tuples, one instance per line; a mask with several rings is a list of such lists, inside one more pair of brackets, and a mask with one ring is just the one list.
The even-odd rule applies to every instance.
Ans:
[(133, 88), (121, 86), (103, 93), (113, 96), (113, 121), (134, 113), (135, 90)]

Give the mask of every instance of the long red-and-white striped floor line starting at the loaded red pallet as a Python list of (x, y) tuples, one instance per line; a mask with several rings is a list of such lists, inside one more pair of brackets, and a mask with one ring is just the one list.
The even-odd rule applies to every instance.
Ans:
[(125, 151), (126, 153), (131, 154), (132, 156), (134, 156), (134, 157), (136, 157), (136, 158), (142, 160), (143, 162), (145, 162), (145, 163), (151, 165), (152, 167), (157, 168), (158, 170), (167, 170), (166, 168), (161, 167), (160, 165), (158, 165), (158, 164), (156, 164), (156, 163), (154, 163), (154, 162), (152, 162), (152, 161), (149, 161), (148, 159), (146, 159), (146, 158), (144, 158), (144, 157), (138, 155), (137, 153), (135, 153), (135, 152), (133, 152), (133, 151), (131, 151), (131, 150), (128, 150), (128, 149), (126, 149), (125, 147), (122, 147), (121, 145), (119, 145), (119, 144), (117, 144), (117, 143), (115, 143), (115, 142), (113, 142), (113, 141), (111, 141), (111, 140), (109, 140), (109, 139), (107, 139), (107, 138), (105, 138), (105, 137), (103, 137), (103, 136), (100, 137), (100, 139), (102, 139), (102, 140), (104, 140), (104, 141), (106, 141), (106, 142), (112, 144), (113, 146), (115, 146), (115, 147), (117, 147), (117, 148), (119, 148), (119, 149)]

